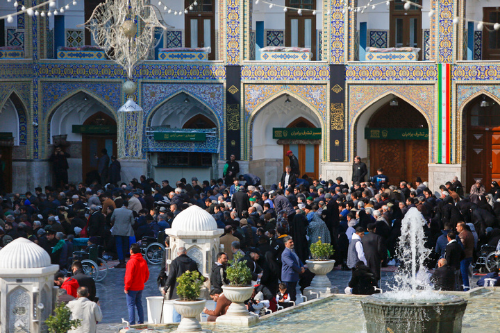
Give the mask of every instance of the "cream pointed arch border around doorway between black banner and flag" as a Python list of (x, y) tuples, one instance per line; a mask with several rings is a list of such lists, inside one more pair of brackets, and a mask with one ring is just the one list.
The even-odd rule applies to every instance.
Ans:
[[(360, 133), (358, 133), (358, 131), (356, 131), (356, 127), (358, 126), (358, 121), (360, 119), (360, 117), (362, 117), (365, 112), (367, 112), (367, 110), (371, 109), (374, 107), (374, 105), (376, 103), (378, 103), (379, 101), (382, 101), (383, 99), (386, 99), (387, 96), (395, 96), (399, 99), (402, 99), (403, 101), (405, 101), (406, 103), (412, 105), (413, 108), (415, 108), (415, 110), (417, 110), (418, 112), (420, 112), (424, 118), (426, 119), (426, 122), (427, 122), (427, 127), (428, 127), (428, 134), (429, 134), (429, 138), (428, 138), (428, 160), (429, 161), (432, 161), (432, 156), (433, 156), (433, 142), (434, 142), (434, 139), (433, 139), (433, 136), (434, 136), (434, 126), (433, 126), (433, 119), (431, 119), (429, 117), (429, 115), (427, 114), (427, 112), (420, 106), (418, 105), (417, 103), (415, 103), (415, 101), (411, 101), (410, 99), (408, 99), (407, 96), (404, 96), (403, 94), (401, 94), (400, 92), (397, 92), (396, 90), (387, 90), (386, 92), (383, 92), (383, 94), (380, 94), (378, 96), (376, 96), (374, 99), (372, 99), (371, 101), (369, 101), (368, 103), (365, 104), (365, 106), (363, 106), (363, 108), (361, 108), (360, 110), (358, 110), (358, 112), (356, 112), (356, 114), (354, 114), (354, 116), (352, 117), (352, 119), (349, 121), (349, 130), (346, 131), (346, 139), (347, 139), (347, 142), (349, 142), (349, 153), (348, 153), (348, 158), (349, 158), (349, 161), (353, 161), (354, 160), (354, 156), (355, 155), (358, 155), (358, 153), (355, 153), (355, 144), (357, 142), (357, 137), (356, 135), (360, 135)], [(378, 108), (374, 108), (373, 110), (373, 113), (372, 115), (378, 110)], [(371, 116), (372, 116), (371, 115)], [(370, 118), (371, 118), (370, 116)], [(349, 137), (349, 135), (352, 135), (352, 137)]]

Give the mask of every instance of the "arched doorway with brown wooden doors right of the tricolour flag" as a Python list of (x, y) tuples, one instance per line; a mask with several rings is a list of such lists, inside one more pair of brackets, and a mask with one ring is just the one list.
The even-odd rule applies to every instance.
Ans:
[(482, 94), (465, 107), (467, 182), (500, 182), (500, 105)]

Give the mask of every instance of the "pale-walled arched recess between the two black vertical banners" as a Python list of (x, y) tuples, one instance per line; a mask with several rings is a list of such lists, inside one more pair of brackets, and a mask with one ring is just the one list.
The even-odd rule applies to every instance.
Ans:
[[(293, 131), (288, 128), (304, 130)], [(293, 132), (300, 133), (290, 135)], [(290, 160), (285, 156), (288, 150), (293, 151), (301, 163), (300, 176), (304, 173), (313, 178), (319, 176), (322, 119), (312, 108), (294, 96), (276, 96), (252, 114), (249, 119), (249, 133), (249, 172), (259, 176), (263, 185), (278, 184), (284, 167), (290, 164)], [(313, 145), (313, 153), (310, 148), (305, 150), (308, 145)], [(303, 151), (299, 146), (303, 147)]]

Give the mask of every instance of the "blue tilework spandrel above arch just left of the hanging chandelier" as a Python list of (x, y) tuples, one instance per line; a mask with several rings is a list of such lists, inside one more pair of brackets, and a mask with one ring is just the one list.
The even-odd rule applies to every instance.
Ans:
[(113, 110), (118, 110), (122, 106), (122, 85), (117, 82), (42, 82), (42, 119), (46, 119), (47, 114), (55, 105), (74, 95), (77, 91), (83, 90), (97, 96), (101, 101), (110, 105)]

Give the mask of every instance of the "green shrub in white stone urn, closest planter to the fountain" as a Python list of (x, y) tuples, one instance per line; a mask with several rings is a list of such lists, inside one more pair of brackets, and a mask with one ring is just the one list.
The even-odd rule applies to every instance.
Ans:
[(306, 288), (306, 291), (314, 291), (314, 293), (331, 293), (331, 282), (330, 279), (326, 277), (326, 274), (330, 273), (335, 266), (335, 260), (328, 259), (333, 255), (333, 246), (331, 244), (323, 243), (321, 237), (316, 243), (311, 244), (310, 254), (311, 259), (306, 260), (309, 271), (315, 273), (313, 281), (311, 281), (310, 287)]

